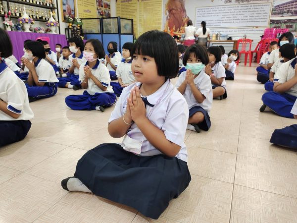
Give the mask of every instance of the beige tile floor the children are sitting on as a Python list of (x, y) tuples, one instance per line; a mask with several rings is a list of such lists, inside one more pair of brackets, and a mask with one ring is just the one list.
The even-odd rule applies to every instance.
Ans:
[(264, 89), (255, 79), (255, 64), (240, 65), (227, 89), (226, 100), (213, 102), (210, 130), (187, 130), (192, 181), (156, 221), (60, 186), (87, 150), (121, 141), (107, 133), (112, 108), (72, 111), (64, 98), (82, 90), (69, 89), (31, 103), (35, 118), (28, 136), (0, 148), (0, 222), (297, 222), (297, 152), (269, 143), (274, 129), (297, 120), (259, 112)]

